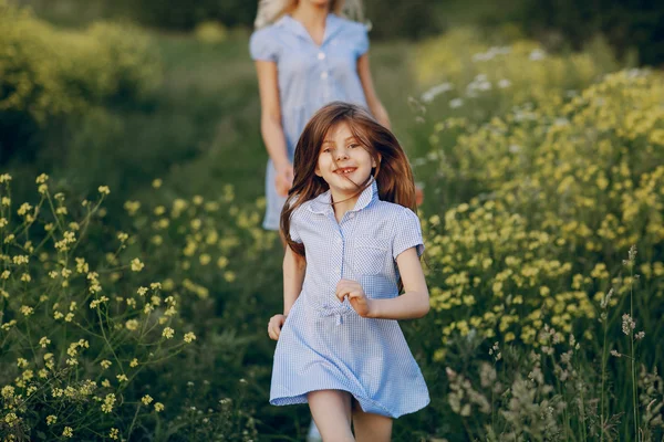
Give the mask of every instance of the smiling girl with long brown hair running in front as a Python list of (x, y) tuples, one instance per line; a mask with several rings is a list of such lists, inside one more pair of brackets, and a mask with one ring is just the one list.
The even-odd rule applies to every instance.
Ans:
[(429, 401), (395, 320), (429, 309), (414, 208), (406, 155), (362, 107), (332, 103), (307, 124), (281, 213), (270, 403), (309, 402), (323, 441), (354, 441), (351, 422), (357, 441), (388, 441), (392, 419)]

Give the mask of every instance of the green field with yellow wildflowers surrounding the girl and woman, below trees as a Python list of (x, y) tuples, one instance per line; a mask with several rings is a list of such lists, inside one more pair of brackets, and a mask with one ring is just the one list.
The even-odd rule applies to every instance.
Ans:
[[(248, 31), (0, 12), (0, 439), (303, 440), (308, 408), (268, 404)], [(661, 440), (661, 72), (465, 27), (371, 63), (426, 194), (432, 312), (402, 327), (432, 403), (393, 440)]]

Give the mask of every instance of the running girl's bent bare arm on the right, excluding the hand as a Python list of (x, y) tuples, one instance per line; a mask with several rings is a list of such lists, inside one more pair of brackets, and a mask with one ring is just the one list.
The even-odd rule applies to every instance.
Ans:
[(382, 319), (414, 319), (429, 311), (429, 297), (422, 264), (415, 248), (396, 256), (396, 265), (405, 293), (391, 299), (370, 299), (367, 317)]

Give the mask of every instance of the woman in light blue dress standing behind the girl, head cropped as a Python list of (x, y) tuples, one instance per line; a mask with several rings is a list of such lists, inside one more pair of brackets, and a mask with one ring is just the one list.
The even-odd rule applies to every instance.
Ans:
[(263, 228), (279, 229), (292, 185), (295, 143), (309, 118), (341, 99), (371, 110), (390, 127), (373, 87), (360, 0), (261, 0), (249, 49), (256, 60), (261, 134), (270, 156)]

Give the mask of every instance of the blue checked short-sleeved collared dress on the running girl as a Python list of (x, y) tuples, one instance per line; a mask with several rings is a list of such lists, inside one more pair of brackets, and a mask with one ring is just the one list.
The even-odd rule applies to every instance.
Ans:
[(274, 350), (270, 403), (305, 403), (315, 390), (345, 390), (362, 410), (398, 418), (429, 402), (422, 371), (397, 320), (364, 318), (335, 296), (341, 278), (369, 298), (398, 296), (396, 256), (424, 250), (417, 215), (381, 201), (376, 182), (340, 223), (330, 191), (299, 207), (291, 238), (304, 244), (307, 274)]

